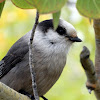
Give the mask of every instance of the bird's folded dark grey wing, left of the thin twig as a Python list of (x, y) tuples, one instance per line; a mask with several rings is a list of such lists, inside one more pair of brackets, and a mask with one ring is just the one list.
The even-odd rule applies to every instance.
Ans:
[(0, 61), (0, 78), (6, 75), (17, 63), (21, 62), (28, 51), (28, 42), (25, 41), (24, 37), (20, 38)]

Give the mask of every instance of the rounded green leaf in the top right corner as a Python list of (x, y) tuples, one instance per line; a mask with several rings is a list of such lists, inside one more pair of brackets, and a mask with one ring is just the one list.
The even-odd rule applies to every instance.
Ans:
[(88, 18), (100, 18), (100, 0), (77, 0), (76, 7), (82, 15)]

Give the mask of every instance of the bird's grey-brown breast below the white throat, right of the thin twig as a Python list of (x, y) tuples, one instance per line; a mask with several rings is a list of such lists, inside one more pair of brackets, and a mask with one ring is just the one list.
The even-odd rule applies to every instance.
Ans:
[[(39, 58), (40, 57), (40, 58)], [(34, 54), (34, 66), (38, 93), (44, 95), (58, 80), (66, 63), (66, 56)]]

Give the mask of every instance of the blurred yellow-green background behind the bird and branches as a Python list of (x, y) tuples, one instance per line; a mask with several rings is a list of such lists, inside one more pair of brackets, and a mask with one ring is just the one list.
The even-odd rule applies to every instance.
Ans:
[[(76, 0), (70, 0), (63, 8), (61, 18), (70, 22), (77, 30), (82, 43), (72, 46), (64, 71), (45, 95), (49, 100), (96, 100), (94, 93), (90, 95), (85, 87), (86, 76), (80, 64), (80, 52), (87, 46), (94, 62), (95, 40), (93, 23), (82, 17), (75, 8)], [(30, 31), (34, 24), (36, 10), (23, 10), (15, 7), (9, 0), (6, 2), (0, 18), (0, 60), (9, 48), (25, 33)], [(51, 14), (41, 15), (40, 21), (52, 18)], [(42, 100), (42, 99), (41, 99)]]

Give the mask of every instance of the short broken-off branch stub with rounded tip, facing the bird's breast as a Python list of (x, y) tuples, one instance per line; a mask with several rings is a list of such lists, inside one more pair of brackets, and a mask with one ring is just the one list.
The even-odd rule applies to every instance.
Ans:
[(94, 65), (90, 60), (89, 56), (90, 56), (90, 52), (88, 48), (84, 46), (80, 54), (80, 62), (87, 76), (86, 87), (88, 88), (89, 93), (91, 93), (91, 91), (96, 88), (97, 77), (95, 74)]

